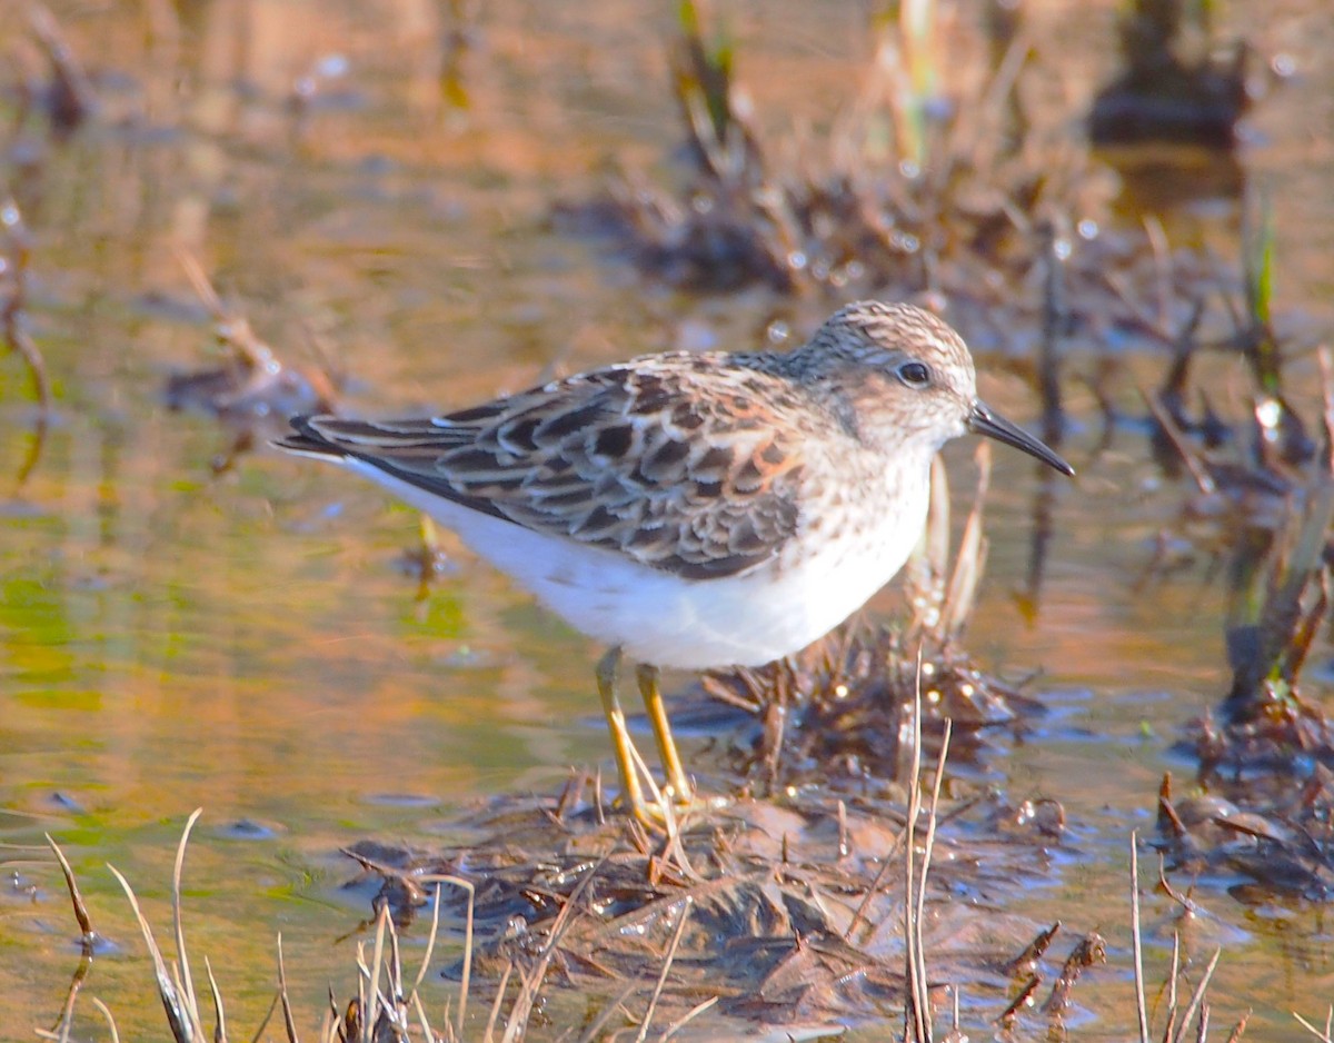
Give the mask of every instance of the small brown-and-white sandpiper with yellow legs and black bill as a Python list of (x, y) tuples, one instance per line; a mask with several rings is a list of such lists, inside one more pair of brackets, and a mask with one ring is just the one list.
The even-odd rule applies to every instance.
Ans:
[(1074, 471), (976, 396), (972, 359), (910, 304), (850, 304), (788, 353), (648, 355), (444, 416), (292, 420), (332, 460), (455, 530), (604, 642), (598, 691), (622, 798), (646, 824), (616, 696), (623, 654), (666, 775), (691, 784), (660, 667), (762, 666), (822, 638), (899, 571), (931, 457), (968, 431)]

